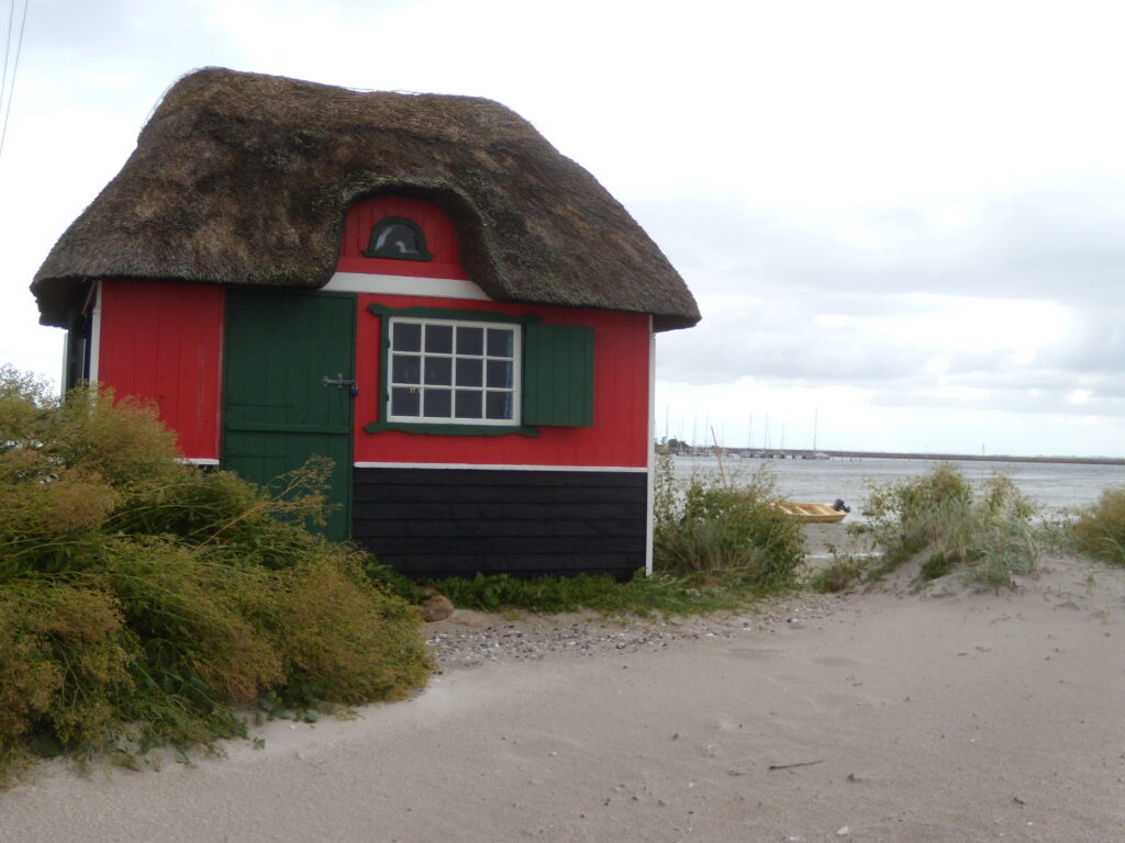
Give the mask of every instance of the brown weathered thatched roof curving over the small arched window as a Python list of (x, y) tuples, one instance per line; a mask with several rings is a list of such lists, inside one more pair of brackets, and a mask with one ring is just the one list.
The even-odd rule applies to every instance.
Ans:
[(32, 283), (40, 321), (64, 325), (99, 278), (317, 289), (349, 205), (384, 192), (449, 211), (493, 299), (648, 312), (658, 329), (699, 321), (628, 211), (507, 108), (217, 67), (168, 91), (55, 244)]

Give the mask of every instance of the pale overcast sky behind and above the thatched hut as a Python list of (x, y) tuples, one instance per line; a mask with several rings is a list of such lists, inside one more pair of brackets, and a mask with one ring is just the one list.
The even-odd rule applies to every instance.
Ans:
[(27, 285), (223, 65), (488, 97), (590, 170), (703, 311), (658, 339), (658, 435), (1125, 456), (1123, 33), (1115, 0), (29, 0), (0, 363), (57, 378)]

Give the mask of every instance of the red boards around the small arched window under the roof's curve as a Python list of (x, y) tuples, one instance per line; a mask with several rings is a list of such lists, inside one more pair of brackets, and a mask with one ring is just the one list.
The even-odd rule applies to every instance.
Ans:
[[(390, 257), (364, 257), (363, 250), (371, 238), (371, 228), (384, 217), (406, 217), (423, 234), (432, 261), (396, 261)], [(461, 265), (453, 220), (438, 206), (412, 197), (379, 196), (357, 202), (344, 219), (344, 236), (340, 243), (338, 272), (366, 272), (414, 278), (467, 279)]]

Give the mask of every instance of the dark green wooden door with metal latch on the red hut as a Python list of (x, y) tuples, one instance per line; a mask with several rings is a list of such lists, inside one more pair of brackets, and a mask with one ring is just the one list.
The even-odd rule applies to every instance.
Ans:
[(356, 299), (232, 288), (226, 299), (223, 465), (267, 484), (308, 457), (333, 461), (327, 536), (351, 533)]

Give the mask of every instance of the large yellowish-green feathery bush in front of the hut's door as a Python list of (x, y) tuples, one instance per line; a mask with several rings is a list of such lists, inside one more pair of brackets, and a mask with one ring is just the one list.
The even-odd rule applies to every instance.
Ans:
[(269, 710), (400, 698), (431, 669), (414, 606), (300, 525), (328, 465), (260, 489), (177, 461), (142, 404), (60, 404), (0, 368), (0, 783), (35, 754), (132, 758)]

